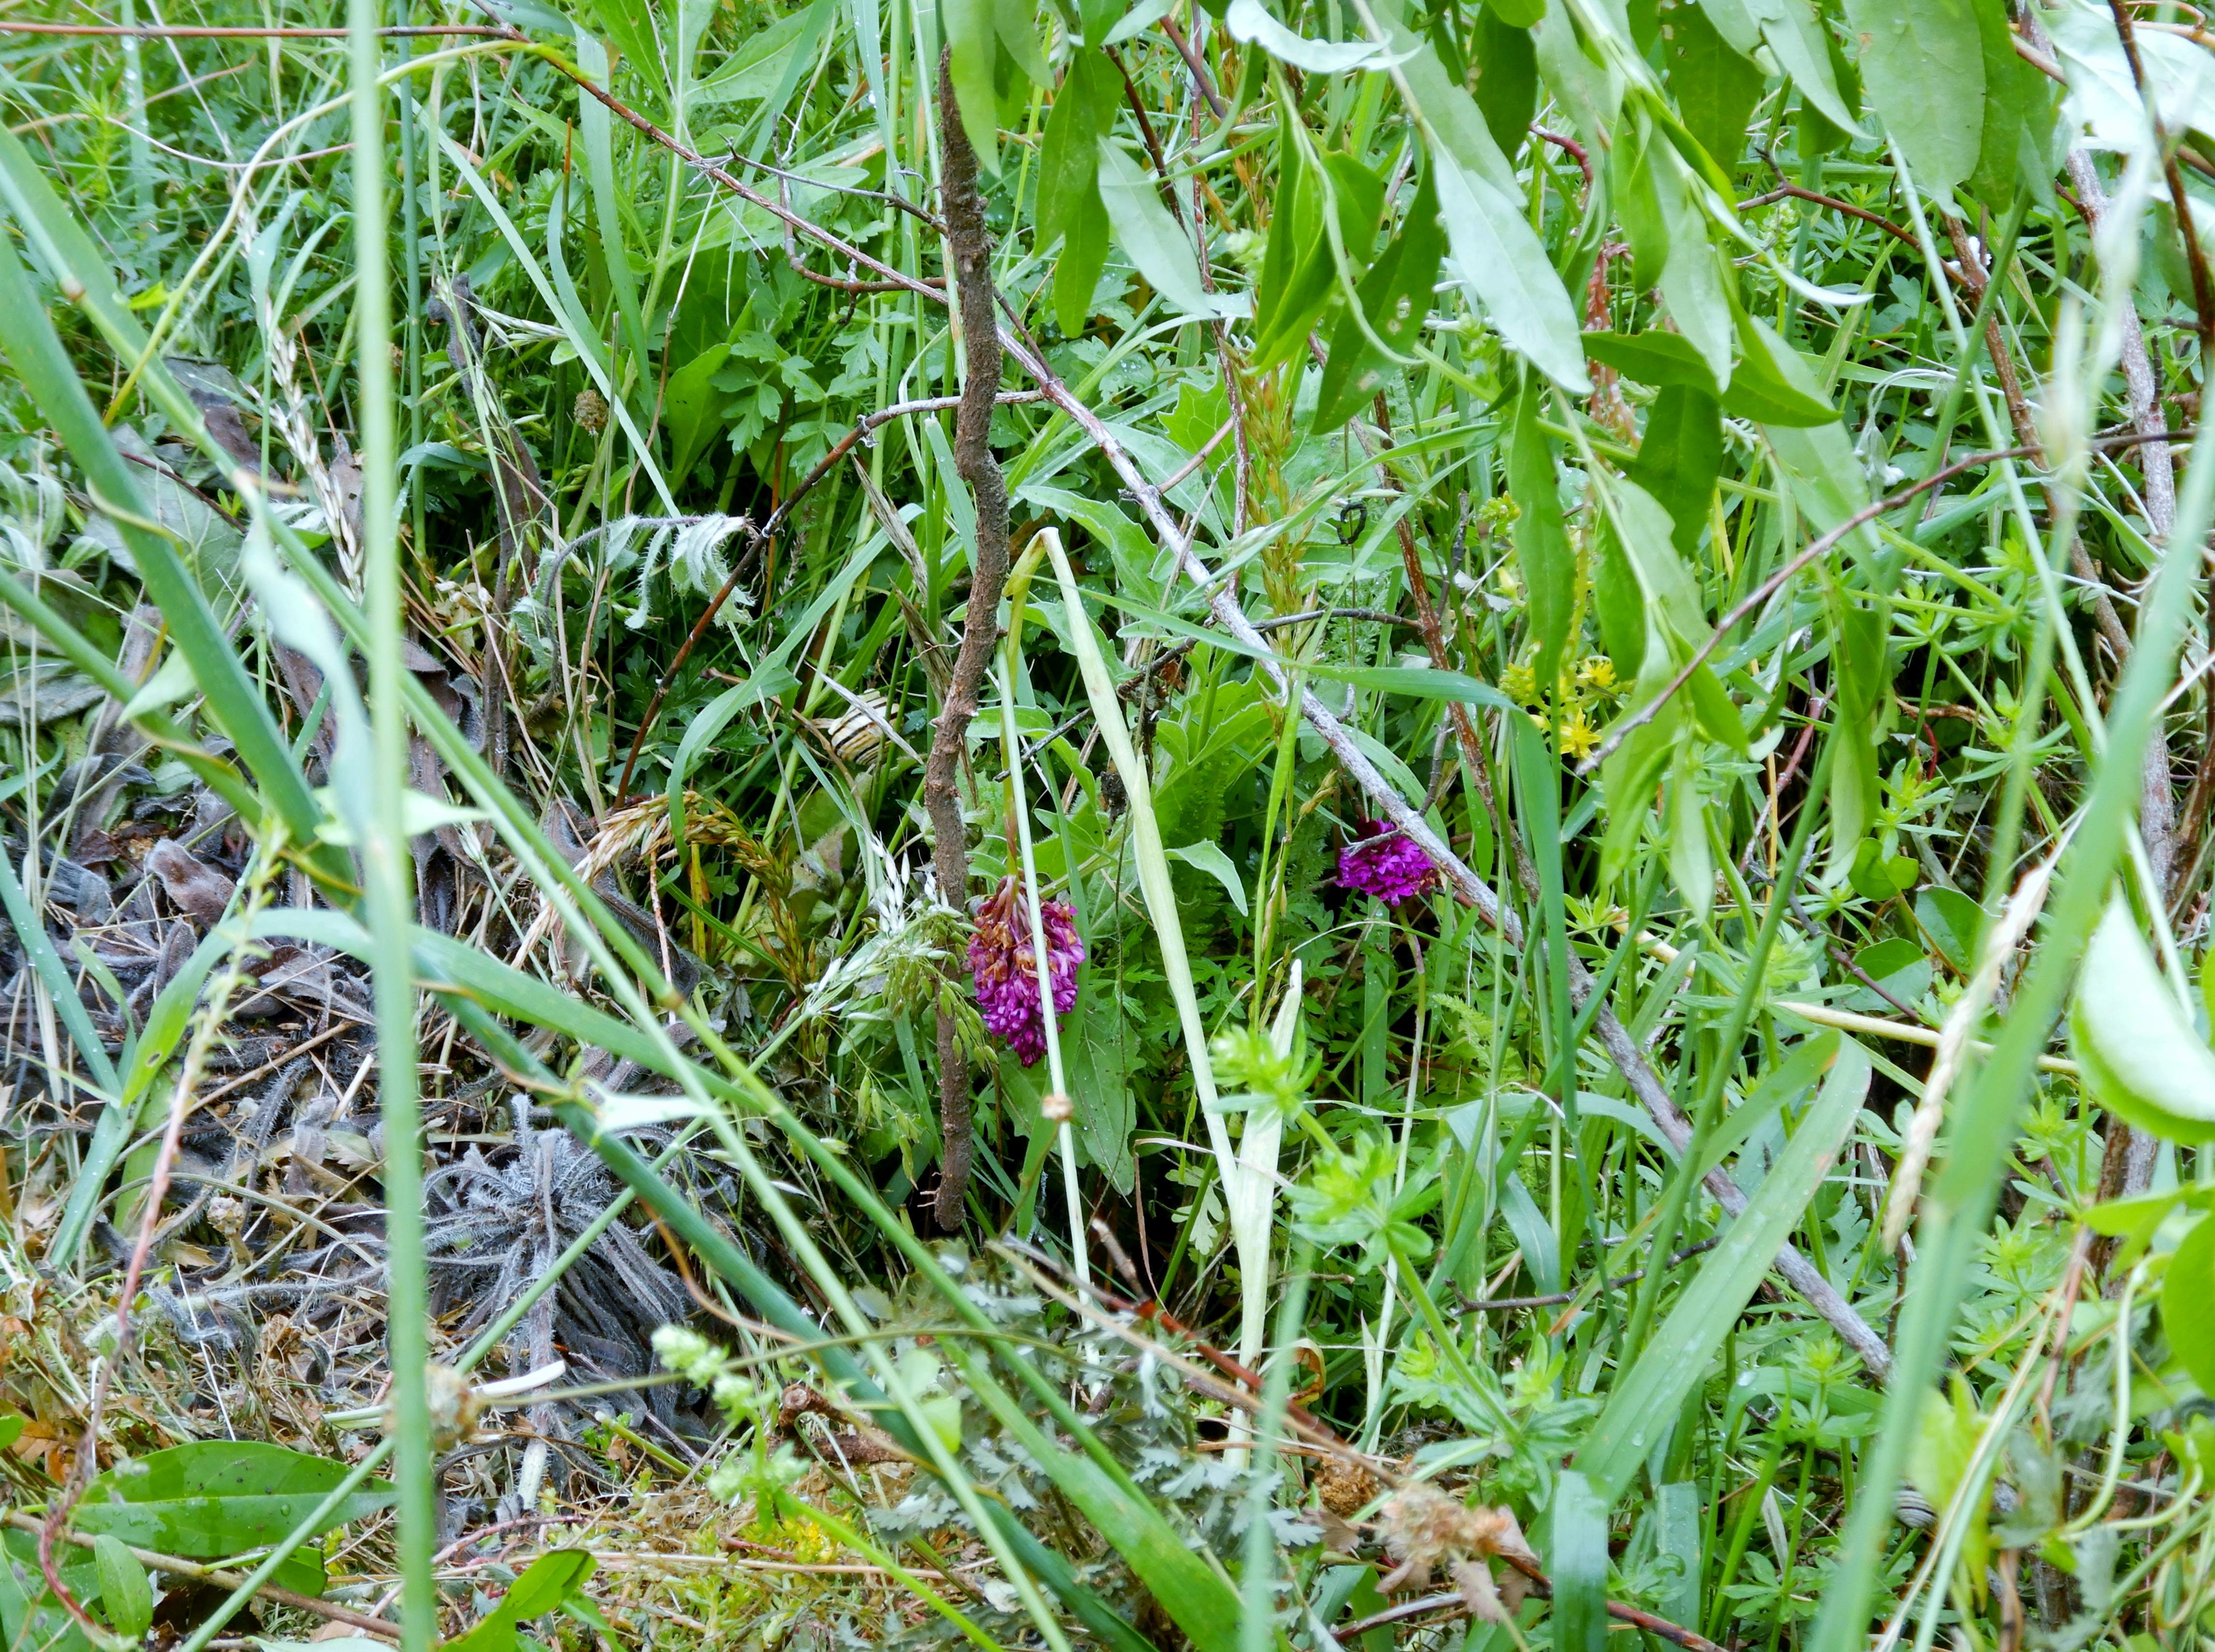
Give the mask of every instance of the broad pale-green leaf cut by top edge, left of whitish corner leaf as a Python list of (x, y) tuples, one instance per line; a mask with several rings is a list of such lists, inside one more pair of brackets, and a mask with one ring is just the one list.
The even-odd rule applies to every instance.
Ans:
[(1947, 195), (1976, 171), (1985, 47), (1974, 0), (1845, 0), (1861, 78), (1916, 182)]

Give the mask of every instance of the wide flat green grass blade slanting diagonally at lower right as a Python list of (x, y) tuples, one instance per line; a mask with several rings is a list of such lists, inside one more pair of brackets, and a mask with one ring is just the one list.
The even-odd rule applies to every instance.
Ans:
[(1624, 1495), (1646, 1453), (1677, 1422), (1683, 1397), (1706, 1380), (1708, 1362), (1830, 1174), (1867, 1092), (1869, 1056), (1861, 1045), (1841, 1043), (1823, 1090), (1761, 1187), (1732, 1218), (1723, 1242), (1701, 1262), (1699, 1276), (1677, 1298), (1630, 1371), (1617, 1375), (1606, 1411), (1577, 1448), (1577, 1468), (1590, 1477), (1604, 1504), (1613, 1506)]

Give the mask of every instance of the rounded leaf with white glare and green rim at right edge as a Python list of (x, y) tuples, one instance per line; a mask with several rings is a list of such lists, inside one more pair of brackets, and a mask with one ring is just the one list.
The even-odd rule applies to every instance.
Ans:
[(2164, 1140), (2215, 1140), (2215, 1054), (2186, 1021), (2120, 899), (2084, 948), (2069, 1047), (2084, 1087), (2124, 1123)]

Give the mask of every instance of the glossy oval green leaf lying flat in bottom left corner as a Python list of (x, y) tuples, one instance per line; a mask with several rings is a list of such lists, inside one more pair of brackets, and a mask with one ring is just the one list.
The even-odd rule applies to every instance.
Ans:
[[(288, 1537), (346, 1475), (346, 1464), (303, 1450), (202, 1439), (100, 1475), (78, 1504), (75, 1526), (186, 1559), (239, 1555)], [(390, 1501), (392, 1486), (370, 1481), (308, 1535), (374, 1515)]]

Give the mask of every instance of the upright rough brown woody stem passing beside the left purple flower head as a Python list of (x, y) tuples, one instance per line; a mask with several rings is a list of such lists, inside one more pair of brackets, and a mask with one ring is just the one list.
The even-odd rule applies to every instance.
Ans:
[[(992, 399), (999, 394), (999, 319), (992, 295), (992, 248), (977, 190), (977, 151), (970, 148), (955, 106), (952, 66), (939, 53), (939, 202), (946, 213), (946, 257), (952, 264), (961, 319), (961, 410), (955, 414), (955, 472), (977, 500), (977, 554), (970, 562), (968, 611), (961, 649), (930, 737), (924, 766), (924, 806), (930, 810), (930, 857), (939, 899), (968, 899), (968, 837), (961, 824), (961, 742), (977, 715), (977, 689), (999, 640), (999, 591), (1008, 582), (1008, 483), (992, 458)], [(961, 1225), (970, 1171), (970, 1076), (955, 1039), (955, 1019), (939, 1010), (939, 1227)]]

